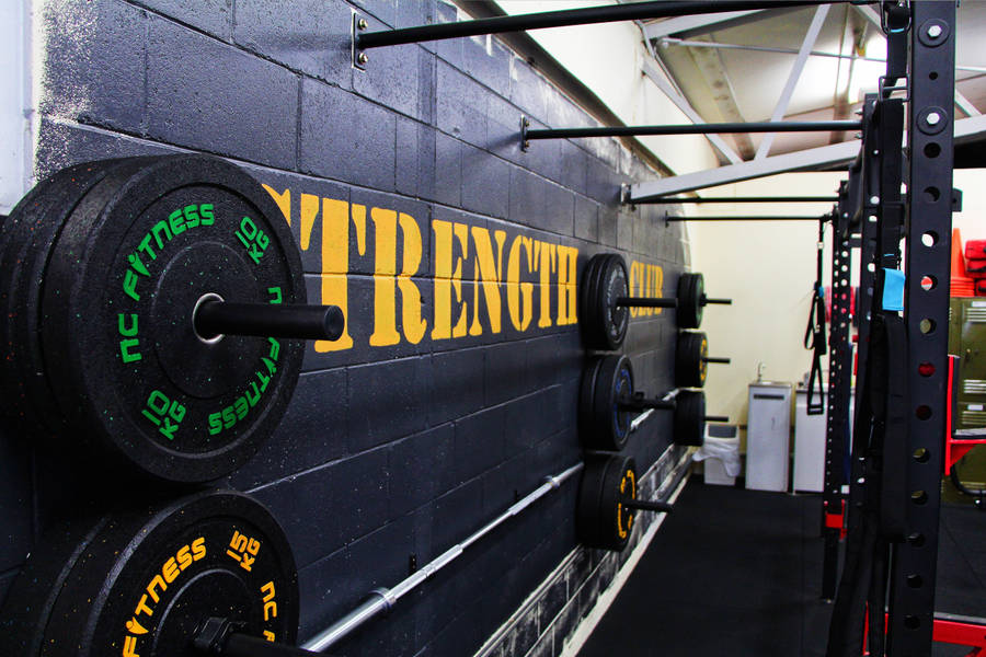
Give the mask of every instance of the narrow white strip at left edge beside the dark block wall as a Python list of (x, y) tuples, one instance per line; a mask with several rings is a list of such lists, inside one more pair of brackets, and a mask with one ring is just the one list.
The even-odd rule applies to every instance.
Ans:
[(0, 214), (30, 187), (32, 0), (0, 2)]

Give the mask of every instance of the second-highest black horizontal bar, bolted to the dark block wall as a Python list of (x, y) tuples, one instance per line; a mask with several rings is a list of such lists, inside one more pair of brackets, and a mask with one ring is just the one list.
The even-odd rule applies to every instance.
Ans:
[(523, 138), (571, 139), (577, 137), (638, 137), (644, 135), (710, 135), (726, 132), (828, 132), (857, 130), (858, 120), (769, 120), (763, 123), (680, 124), (666, 126), (615, 126), (603, 128), (525, 129)]

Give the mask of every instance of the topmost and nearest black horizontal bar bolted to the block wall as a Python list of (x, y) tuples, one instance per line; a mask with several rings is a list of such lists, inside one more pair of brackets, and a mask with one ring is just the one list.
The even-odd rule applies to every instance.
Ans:
[(829, 4), (830, 1), (847, 2), (848, 0), (706, 0), (701, 2), (660, 1), (609, 4), (604, 7), (587, 7), (584, 9), (519, 14), (515, 16), (496, 16), (492, 19), (479, 19), (475, 21), (439, 23), (436, 25), (419, 25), (416, 27), (403, 27), (401, 30), (365, 32), (356, 35), (356, 48), (364, 50), (367, 48), (379, 48), (381, 46), (398, 46), (401, 44), (440, 41), (461, 36), (477, 36), (480, 34), (501, 34), (503, 32), (523, 32), (525, 30), (588, 25), (593, 23), (614, 23), (617, 21), (639, 21), (686, 14), (706, 14), (723, 11), (742, 11), (746, 9), (812, 7), (816, 4)]

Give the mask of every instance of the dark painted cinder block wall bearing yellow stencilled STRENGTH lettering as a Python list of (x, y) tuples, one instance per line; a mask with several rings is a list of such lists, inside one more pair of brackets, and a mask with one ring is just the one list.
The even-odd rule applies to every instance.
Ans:
[[(575, 418), (585, 353), (577, 327), (559, 325), (557, 316), (539, 326), (536, 293), (530, 325), (517, 330), (505, 308), (511, 283), (502, 281), (502, 326), (494, 332), (485, 290), (473, 283), (481, 277), (472, 241), (461, 285), (470, 308), (481, 304), (480, 334), (445, 339), (433, 333), (436, 280), (447, 276), (435, 227), (446, 222), (490, 235), (504, 231), (505, 249), (518, 237), (575, 249), (578, 273), (593, 254), (619, 251), (628, 263), (660, 266), (667, 293), (685, 267), (680, 224), (666, 224), (646, 206), (619, 205), (621, 183), (656, 174), (617, 142), (541, 141), (520, 151), (521, 114), (536, 127), (595, 125), (531, 66), (495, 38), (383, 48), (370, 53), (366, 71), (351, 66), (354, 11), (371, 30), (457, 19), (454, 7), (435, 0), (53, 0), (45, 7), (36, 16), (45, 54), (38, 175), (130, 154), (227, 157), (283, 204), (311, 299), (345, 274), (352, 347), (309, 347), (277, 433), (218, 483), (252, 493), (287, 530), (300, 569), (302, 638), (370, 589), (406, 576), (412, 558), (426, 563), (581, 459)], [(411, 301), (393, 292), (399, 339), (370, 344), (377, 284), (386, 287), (394, 273), (380, 263), (392, 252), (400, 268), (409, 239), (402, 230), (393, 240), (378, 232), (374, 208), (409, 216), (421, 234), (421, 261), (410, 276), (426, 324), (417, 342), (402, 320)], [(324, 257), (323, 244), (337, 238), (323, 235), (330, 215), (348, 230), (344, 270), (332, 270)], [(360, 221), (365, 230), (357, 234)], [(555, 261), (548, 286), (523, 267), (514, 283), (547, 290), (552, 315), (565, 292), (560, 266)], [(641, 389), (673, 387), (674, 336), (672, 313), (634, 320), (624, 351)], [(657, 413), (628, 451), (643, 471), (669, 438), (670, 418)], [(0, 468), (8, 534), (0, 543), (2, 598), (47, 519), (84, 495), (88, 475), (10, 433), (0, 436)], [(573, 577), (599, 566), (601, 554), (576, 550), (575, 483), (467, 552), (337, 654), (472, 654), (563, 560), (575, 560)], [(576, 595), (571, 585), (565, 590)], [(598, 586), (580, 595), (588, 596), (581, 614)], [(546, 619), (566, 601), (557, 590), (551, 596), (554, 602), (539, 612)], [(548, 622), (535, 621), (536, 627)], [(566, 621), (565, 632), (576, 621)], [(514, 637), (502, 650), (524, 654), (537, 635)], [(557, 654), (561, 637), (536, 649)]]

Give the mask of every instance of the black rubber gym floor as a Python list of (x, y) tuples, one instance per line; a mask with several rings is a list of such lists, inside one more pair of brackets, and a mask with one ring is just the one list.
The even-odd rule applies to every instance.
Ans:
[[(692, 476), (578, 657), (824, 656), (819, 505)], [(936, 611), (986, 618), (986, 512), (972, 505), (942, 505)]]

